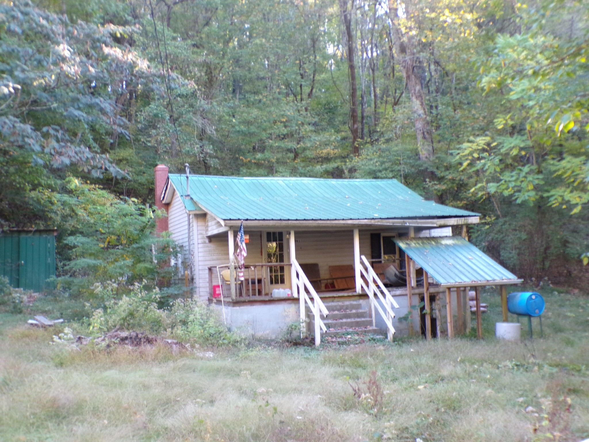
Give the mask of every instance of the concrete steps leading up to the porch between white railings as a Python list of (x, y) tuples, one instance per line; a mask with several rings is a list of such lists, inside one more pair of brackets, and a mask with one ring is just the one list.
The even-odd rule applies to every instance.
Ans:
[[(337, 335), (346, 332), (362, 332), (382, 334), (382, 332), (372, 326), (372, 318), (368, 309), (362, 308), (362, 302), (359, 301), (333, 301), (325, 302), (325, 307), (329, 314), (323, 318), (323, 324), (327, 327), (326, 336)], [(307, 318), (310, 319), (309, 331), (315, 330), (315, 321), (313, 313), (307, 306)]]

